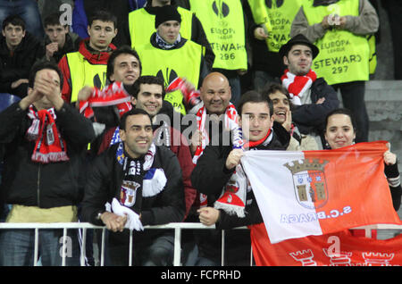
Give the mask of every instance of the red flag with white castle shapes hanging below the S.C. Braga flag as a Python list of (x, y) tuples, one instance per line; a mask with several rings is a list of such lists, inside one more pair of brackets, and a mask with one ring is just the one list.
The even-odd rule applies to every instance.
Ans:
[(250, 228), (257, 266), (400, 266), (402, 235), (389, 239), (355, 237), (348, 230), (293, 238), (272, 244), (264, 223)]

